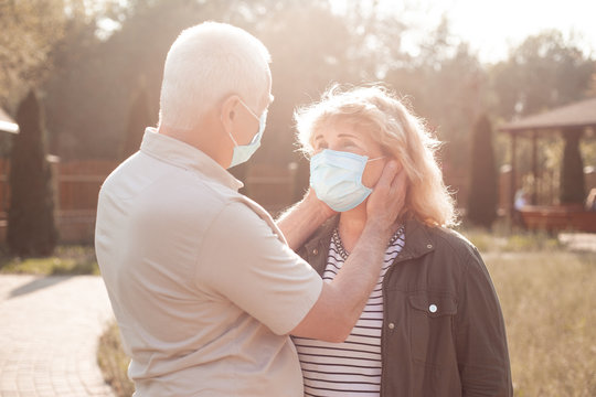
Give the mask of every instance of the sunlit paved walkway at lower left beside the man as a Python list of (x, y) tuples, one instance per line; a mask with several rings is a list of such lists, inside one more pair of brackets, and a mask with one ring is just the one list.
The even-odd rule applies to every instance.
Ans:
[(95, 356), (111, 315), (99, 277), (0, 276), (0, 396), (114, 396)]

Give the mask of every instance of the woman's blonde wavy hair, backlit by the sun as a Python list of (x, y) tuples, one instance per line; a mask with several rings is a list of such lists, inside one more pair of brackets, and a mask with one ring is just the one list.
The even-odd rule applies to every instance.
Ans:
[(329, 125), (349, 124), (369, 133), (386, 155), (397, 159), (407, 176), (404, 215), (432, 226), (453, 226), (454, 200), (436, 160), (440, 142), (387, 88), (374, 85), (342, 89), (333, 85), (321, 100), (294, 114), (302, 152), (313, 152), (315, 132)]

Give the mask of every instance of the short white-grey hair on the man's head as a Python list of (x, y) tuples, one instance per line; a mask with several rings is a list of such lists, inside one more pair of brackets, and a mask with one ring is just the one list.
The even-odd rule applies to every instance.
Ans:
[(191, 130), (233, 94), (256, 108), (269, 95), (269, 62), (265, 45), (240, 28), (204, 22), (184, 30), (166, 58), (160, 126)]

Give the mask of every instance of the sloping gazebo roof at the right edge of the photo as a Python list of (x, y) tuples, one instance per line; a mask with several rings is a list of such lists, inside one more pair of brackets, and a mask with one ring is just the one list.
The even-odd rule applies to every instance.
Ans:
[(517, 133), (523, 131), (546, 131), (596, 127), (596, 97), (531, 115), (499, 128)]

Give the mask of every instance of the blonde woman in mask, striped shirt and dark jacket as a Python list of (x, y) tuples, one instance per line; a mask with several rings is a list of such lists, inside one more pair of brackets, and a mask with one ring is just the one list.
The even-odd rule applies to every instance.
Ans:
[(454, 206), (435, 160), (438, 142), (391, 93), (326, 93), (296, 112), (310, 185), (337, 216), (298, 249), (332, 280), (366, 221), (384, 165), (406, 176), (405, 205), (376, 288), (342, 343), (294, 337), (307, 396), (511, 396), (503, 318), (468, 240), (447, 228)]

